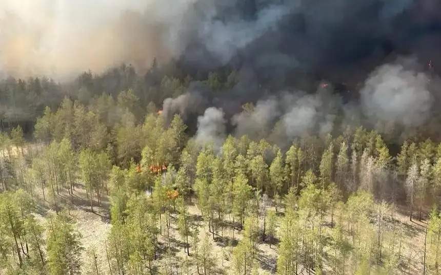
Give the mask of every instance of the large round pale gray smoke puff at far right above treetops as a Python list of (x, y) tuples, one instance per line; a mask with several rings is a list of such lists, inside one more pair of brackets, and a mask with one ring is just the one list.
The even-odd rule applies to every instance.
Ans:
[(424, 124), (434, 97), (429, 77), (402, 64), (386, 64), (376, 69), (360, 91), (364, 114), (372, 124), (398, 124), (404, 128)]

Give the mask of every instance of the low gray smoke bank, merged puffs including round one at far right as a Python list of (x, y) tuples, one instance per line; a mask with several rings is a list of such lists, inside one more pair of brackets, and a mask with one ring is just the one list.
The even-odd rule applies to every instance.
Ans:
[(313, 94), (282, 92), (260, 99), (232, 115), (231, 124), (236, 136), (268, 138), (280, 146), (299, 137), (325, 137), (359, 125), (391, 139), (404, 138), (423, 133), (421, 128), (429, 123), (428, 128), (439, 128), (431, 119), (438, 116), (433, 109), (440, 102), (434, 92), (437, 87), (438, 78), (427, 69), (414, 59), (400, 58), (376, 68), (359, 91), (350, 92), (359, 93), (359, 101), (344, 103), (331, 84), (322, 83)]

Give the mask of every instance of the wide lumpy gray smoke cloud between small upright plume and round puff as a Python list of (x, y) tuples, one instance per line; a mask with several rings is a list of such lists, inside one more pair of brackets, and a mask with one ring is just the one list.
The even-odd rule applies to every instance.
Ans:
[(330, 133), (341, 108), (341, 100), (332, 94), (331, 87), (320, 87), (315, 94), (284, 92), (259, 100), (252, 110), (234, 115), (232, 124), (236, 136), (269, 137), (285, 145), (297, 137)]

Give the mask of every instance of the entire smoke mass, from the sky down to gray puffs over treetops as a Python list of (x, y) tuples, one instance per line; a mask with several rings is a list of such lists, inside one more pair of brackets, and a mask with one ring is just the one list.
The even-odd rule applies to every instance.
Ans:
[[(215, 107), (226, 132), (277, 143), (359, 124), (404, 138), (438, 124), (440, 8), (434, 0), (7, 0), (0, 76), (27, 80), (2, 82), (2, 113), (34, 121), (65, 96), (88, 103), (132, 89), (137, 121), (153, 102), (167, 123), (179, 114), (194, 132), (197, 116)], [(43, 86), (42, 76), (60, 84)], [(242, 110), (246, 102), (254, 105)], [(437, 134), (432, 126), (424, 135)]]

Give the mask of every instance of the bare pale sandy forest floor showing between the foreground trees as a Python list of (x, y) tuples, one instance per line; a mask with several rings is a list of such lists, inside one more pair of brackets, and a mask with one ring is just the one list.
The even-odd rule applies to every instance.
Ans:
[[(40, 192), (41, 193), (41, 190)], [(37, 197), (41, 197), (43, 201), (42, 194), (38, 194)], [(86, 191), (84, 186), (77, 184), (73, 200), (70, 199), (70, 195), (66, 193), (61, 193), (59, 195), (62, 200), (64, 200), (64, 207), (67, 205), (71, 205), (70, 216), (76, 222), (79, 232), (82, 235), (82, 245), (85, 248), (83, 250), (82, 259), (85, 263), (83, 265), (84, 272), (83, 274), (89, 274), (87, 270), (90, 270), (90, 249), (94, 249), (98, 262), (99, 274), (110, 274), (109, 265), (107, 261), (107, 253), (106, 253), (106, 240), (108, 232), (110, 231), (110, 213), (109, 213), (109, 199), (108, 196), (104, 195), (102, 198), (102, 205), (98, 206), (96, 200), (94, 200), (94, 212), (90, 210), (90, 201), (87, 198)], [(195, 199), (193, 198), (194, 202)], [(232, 249), (234, 245), (237, 243), (237, 240), (242, 238), (241, 232), (236, 228), (234, 230), (234, 241), (233, 241), (233, 230), (232, 224), (229, 223), (228, 217), (226, 218), (226, 226), (223, 229), (223, 232), (220, 232), (218, 228), (218, 232), (216, 235), (209, 232), (208, 225), (204, 222), (201, 211), (197, 208), (197, 206), (193, 202), (188, 202), (188, 210), (189, 214), (192, 216), (192, 220), (199, 231), (199, 240), (204, 239), (206, 234), (209, 235), (209, 240), (212, 244), (212, 257), (215, 260), (216, 264), (212, 265), (216, 267), (215, 274), (229, 274), (229, 267), (232, 263)], [(54, 212), (51, 209), (50, 204), (48, 202), (39, 203), (39, 218), (42, 220), (46, 220), (46, 218)], [(66, 213), (66, 215), (69, 215)], [(279, 211), (278, 216), (283, 216), (283, 212)], [(329, 218), (329, 217), (328, 217)], [(179, 237), (177, 232), (177, 221), (176, 214), (171, 214), (171, 227), (170, 227), (170, 240), (171, 240), (171, 258), (167, 255), (167, 226), (166, 219), (162, 219), (162, 232), (159, 237), (159, 242), (161, 243), (159, 248), (159, 261), (157, 261), (157, 267), (163, 266), (172, 268), (174, 271), (178, 270), (179, 274), (185, 274), (183, 266), (186, 261), (193, 263), (192, 252), (194, 251), (193, 247), (190, 247), (190, 257), (187, 257), (187, 253), (184, 252), (185, 243)], [(260, 227), (262, 228), (263, 221), (260, 220)], [(372, 217), (372, 223), (375, 225), (375, 217)], [(328, 224), (330, 224), (330, 219)], [(236, 225), (237, 226), (237, 225)], [(409, 220), (409, 216), (406, 212), (405, 208), (398, 207), (393, 216), (388, 219), (386, 224), (384, 225), (388, 227), (389, 231), (398, 232), (399, 229), (402, 228), (401, 233), (402, 238), (399, 238), (399, 235), (395, 236), (385, 236), (386, 238), (393, 239), (392, 243), (384, 243), (384, 250), (390, 249), (391, 245), (394, 245), (395, 251), (398, 251), (399, 241), (398, 239), (402, 239), (401, 242), (401, 252), (400, 252), (400, 264), (398, 266), (397, 274), (422, 274), (422, 261), (423, 261), (423, 248), (424, 248), (424, 229), (425, 229), (425, 221), (418, 221), (418, 217), (414, 217), (414, 221)], [(329, 226), (327, 226), (328, 229)], [(393, 229), (393, 230), (392, 230)], [(190, 239), (190, 238), (189, 238)], [(191, 241), (189, 240), (190, 245)], [(277, 244), (271, 245), (271, 248), (267, 242), (262, 240), (258, 241), (257, 244), (257, 256), (256, 260), (260, 265), (260, 271), (268, 270), (271, 273), (275, 272), (276, 262), (277, 262)], [(328, 251), (331, 254), (331, 251)], [(325, 260), (326, 261), (326, 260)], [(170, 265), (171, 262), (171, 265)], [(329, 263), (330, 264), (330, 263)], [(331, 273), (330, 267), (328, 266), (328, 270), (325, 270), (325, 273)], [(299, 268), (299, 274), (307, 274), (306, 271), (301, 271), (302, 268)], [(214, 271), (214, 270), (213, 270)], [(354, 273), (351, 270), (351, 266), (348, 263), (347, 265), (347, 274)], [(197, 270), (194, 264), (191, 264), (189, 274), (197, 274)]]

